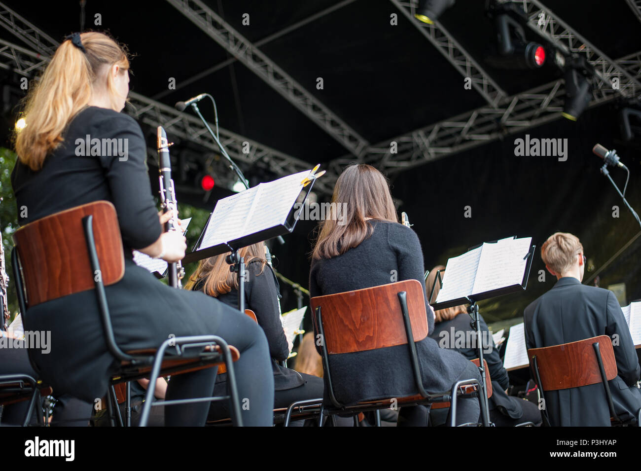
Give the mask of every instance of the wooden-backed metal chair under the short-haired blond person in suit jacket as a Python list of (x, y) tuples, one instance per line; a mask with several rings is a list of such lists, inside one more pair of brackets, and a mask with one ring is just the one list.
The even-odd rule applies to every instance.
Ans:
[[(637, 411), (637, 417), (630, 420), (621, 420), (614, 410), (608, 381), (617, 377), (617, 361), (614, 357), (612, 340), (607, 335), (551, 347), (529, 349), (528, 358), (544, 404), (547, 404), (546, 391), (580, 388), (601, 383), (608, 401), (611, 422), (619, 426), (635, 424), (639, 426), (641, 409)], [(542, 418), (545, 425), (550, 426), (547, 409), (542, 410)]]

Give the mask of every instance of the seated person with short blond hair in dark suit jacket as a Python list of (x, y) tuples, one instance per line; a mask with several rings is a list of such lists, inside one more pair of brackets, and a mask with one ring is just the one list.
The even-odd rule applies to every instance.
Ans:
[[(545, 268), (556, 276), (554, 287), (524, 312), (528, 349), (607, 335), (613, 342), (617, 377), (609, 381), (614, 408), (623, 420), (641, 408), (636, 383), (641, 373), (628, 324), (614, 293), (581, 285), (583, 245), (569, 233), (554, 233), (541, 247)], [(545, 393), (552, 426), (610, 426), (610, 410), (601, 383)]]

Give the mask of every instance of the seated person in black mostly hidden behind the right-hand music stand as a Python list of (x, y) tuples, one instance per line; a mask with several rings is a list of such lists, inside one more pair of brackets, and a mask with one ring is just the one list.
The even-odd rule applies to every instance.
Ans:
[[(445, 270), (445, 267), (438, 265), (429, 272), (429, 276), (425, 281), (428, 292), (434, 285), (437, 270)], [(440, 285), (437, 283), (434, 288), (433, 299), (436, 299), (439, 291)], [(456, 348), (456, 351), (461, 352), (467, 359), (479, 358), (476, 329), (472, 329), (470, 325), (467, 306), (440, 309), (434, 312), (434, 317), (435, 329), (429, 336), (438, 342), (439, 347), (445, 349)], [(487, 361), (490, 379), (492, 380), (492, 396), (488, 399), (490, 420), (497, 427), (513, 427), (523, 422), (540, 424), (542, 422), (541, 413), (537, 404), (507, 395), (507, 390), (510, 387), (508, 372), (503, 368), (503, 361), (499, 357), (499, 351), (494, 345), (494, 339), (490, 335), (487, 324), (485, 324), (485, 319), (480, 314), (479, 318), (481, 320), (483, 359)], [(459, 338), (465, 339), (464, 345), (459, 345)], [(467, 339), (471, 339), (472, 342), (467, 342)], [(444, 423), (444, 413), (445, 409), (431, 411), (432, 425)]]

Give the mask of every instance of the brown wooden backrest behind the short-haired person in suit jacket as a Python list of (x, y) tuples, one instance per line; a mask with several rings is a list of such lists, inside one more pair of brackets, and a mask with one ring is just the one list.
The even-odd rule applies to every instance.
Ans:
[(614, 379), (617, 376), (617, 362), (614, 358), (612, 340), (607, 335), (600, 335), (578, 342), (529, 349), (528, 359), (532, 367), (533, 358), (537, 357), (542, 383), (539, 386), (544, 391), (556, 391), (601, 383), (599, 363), (592, 346), (595, 342), (599, 342), (608, 381)]

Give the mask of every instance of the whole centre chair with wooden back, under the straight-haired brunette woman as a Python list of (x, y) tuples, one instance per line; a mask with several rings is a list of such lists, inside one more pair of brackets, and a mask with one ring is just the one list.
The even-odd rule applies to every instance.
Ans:
[(444, 392), (428, 393), (423, 386), (415, 342), (428, 335), (428, 320), (424, 292), (418, 280), (410, 279), (362, 290), (313, 297), (312, 310), (315, 312), (315, 333), (322, 339), (320, 349), (324, 379), (331, 402), (331, 406), (324, 407), (324, 414), (353, 415), (363, 411), (387, 409), (394, 399), (362, 401), (349, 406), (342, 404), (333, 389), (329, 356), (407, 345), (410, 354), (409, 366), (419, 393), (396, 399), (399, 407), (450, 401), (450, 425), (454, 426), (458, 399), (478, 397), (483, 412), (481, 417), (486, 417), (485, 402), (479, 395), (481, 383), (476, 378), (457, 381), (449, 391)]

